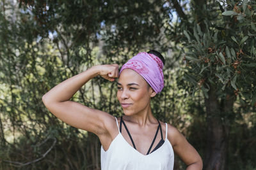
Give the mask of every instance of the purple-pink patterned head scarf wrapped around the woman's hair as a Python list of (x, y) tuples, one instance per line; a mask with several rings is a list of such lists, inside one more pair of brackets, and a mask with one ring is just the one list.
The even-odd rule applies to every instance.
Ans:
[(129, 59), (121, 68), (119, 75), (124, 69), (132, 69), (140, 74), (159, 93), (164, 88), (163, 62), (152, 53), (140, 52)]

